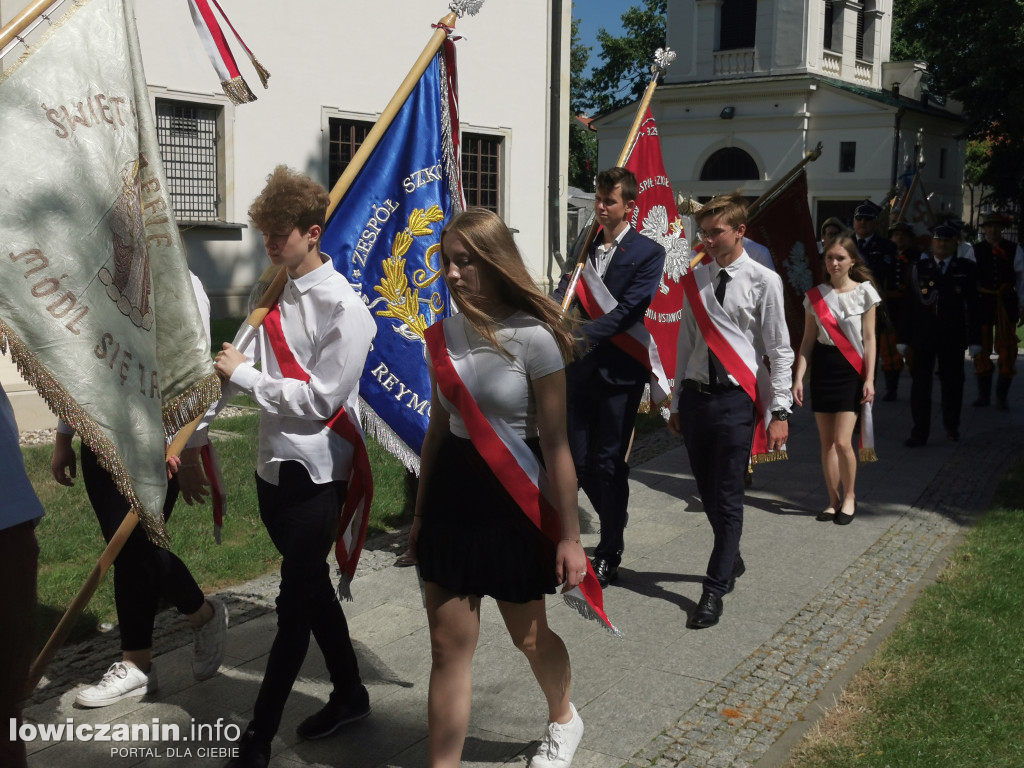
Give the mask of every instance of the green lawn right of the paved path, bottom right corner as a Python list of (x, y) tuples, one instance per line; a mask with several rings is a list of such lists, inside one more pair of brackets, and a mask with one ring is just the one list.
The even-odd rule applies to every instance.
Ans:
[(939, 583), (925, 590), (791, 765), (1024, 765), (1022, 502), (1019, 459)]

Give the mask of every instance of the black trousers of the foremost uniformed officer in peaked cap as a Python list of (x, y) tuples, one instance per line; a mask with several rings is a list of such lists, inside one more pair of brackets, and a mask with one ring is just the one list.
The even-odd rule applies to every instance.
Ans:
[(913, 364), (910, 375), (910, 416), (913, 428), (910, 434), (927, 440), (932, 431), (932, 382), (935, 364), (939, 365), (939, 386), (942, 388), (942, 426), (949, 431), (959, 429), (961, 409), (964, 404), (964, 348), (966, 344), (935, 343), (934, 340), (913, 345)]

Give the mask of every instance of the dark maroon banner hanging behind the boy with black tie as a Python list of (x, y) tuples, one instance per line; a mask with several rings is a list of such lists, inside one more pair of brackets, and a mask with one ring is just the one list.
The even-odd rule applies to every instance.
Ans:
[(775, 271), (782, 279), (790, 339), (797, 349), (804, 335), (804, 294), (822, 280), (804, 171), (758, 209), (746, 224), (746, 237), (771, 251)]

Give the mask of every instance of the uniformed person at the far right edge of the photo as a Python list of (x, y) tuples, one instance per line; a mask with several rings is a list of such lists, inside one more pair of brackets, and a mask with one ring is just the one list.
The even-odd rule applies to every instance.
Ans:
[(978, 264), (978, 322), (981, 325), (981, 351), (974, 356), (978, 378), (975, 407), (987, 406), (992, 392), (992, 350), (999, 365), (995, 402), (1006, 410), (1010, 382), (1017, 373), (1017, 324), (1024, 316), (1024, 250), (1002, 239), (1002, 227), (1010, 218), (1000, 213), (982, 219), (985, 239), (974, 246)]

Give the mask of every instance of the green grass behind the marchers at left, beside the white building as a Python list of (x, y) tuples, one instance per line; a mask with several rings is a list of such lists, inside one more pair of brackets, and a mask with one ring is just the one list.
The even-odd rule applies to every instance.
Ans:
[[(205, 591), (248, 581), (275, 569), (280, 564), (278, 551), (260, 521), (256, 502), (253, 473), (256, 467), (257, 420), (257, 415), (252, 414), (217, 419), (213, 425), (217, 431), (237, 435), (216, 441), (227, 488), (223, 544), (217, 546), (213, 540), (213, 515), (209, 503), (202, 507), (189, 507), (179, 501), (168, 522), (171, 550), (184, 561)], [(50, 446), (27, 447), (23, 454), (29, 476), (46, 509), (46, 515), (37, 529), (41, 645), (85, 583), (104, 543), (81, 476), (74, 487), (58, 485), (50, 476)], [(393, 530), (402, 523), (411, 522), (415, 478), (373, 441), (370, 442), (370, 461), (376, 485), (370, 534)], [(117, 622), (112, 577), (108, 573), (79, 618), (72, 634), (73, 641), (88, 637), (100, 623)]]

